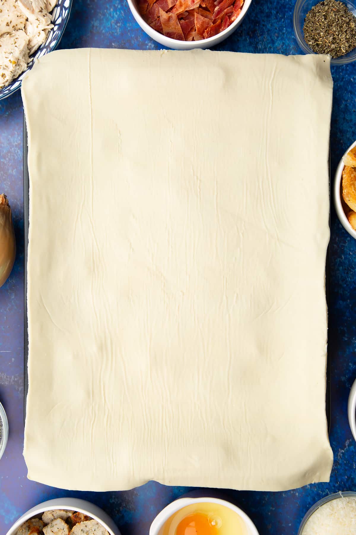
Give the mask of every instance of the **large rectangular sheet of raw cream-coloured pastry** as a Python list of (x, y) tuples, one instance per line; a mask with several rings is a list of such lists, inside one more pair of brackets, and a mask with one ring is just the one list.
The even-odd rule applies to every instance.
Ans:
[(63, 50), (22, 96), (28, 477), (329, 480), (329, 59)]

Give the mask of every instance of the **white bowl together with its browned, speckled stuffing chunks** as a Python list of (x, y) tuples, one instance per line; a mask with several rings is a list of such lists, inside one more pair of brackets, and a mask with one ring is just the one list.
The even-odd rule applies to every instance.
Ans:
[(60, 498), (27, 511), (6, 535), (120, 535), (120, 531), (93, 503)]

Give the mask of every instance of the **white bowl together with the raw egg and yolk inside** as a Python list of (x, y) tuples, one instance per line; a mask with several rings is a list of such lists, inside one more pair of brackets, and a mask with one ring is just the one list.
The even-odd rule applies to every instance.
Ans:
[(187, 495), (165, 507), (154, 519), (149, 535), (258, 535), (254, 523), (239, 507), (219, 498)]

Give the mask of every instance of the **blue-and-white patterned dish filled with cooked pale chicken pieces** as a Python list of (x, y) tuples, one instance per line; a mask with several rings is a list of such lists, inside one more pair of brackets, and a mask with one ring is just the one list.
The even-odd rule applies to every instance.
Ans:
[(54, 50), (72, 0), (1, 0), (0, 100), (21, 87), (35, 60)]

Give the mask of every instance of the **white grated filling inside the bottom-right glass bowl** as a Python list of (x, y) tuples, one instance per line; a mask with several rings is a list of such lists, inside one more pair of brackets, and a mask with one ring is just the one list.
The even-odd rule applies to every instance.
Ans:
[(302, 535), (355, 535), (356, 497), (335, 498), (316, 509)]

